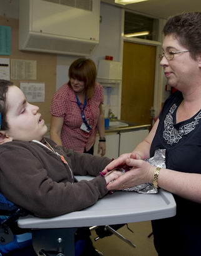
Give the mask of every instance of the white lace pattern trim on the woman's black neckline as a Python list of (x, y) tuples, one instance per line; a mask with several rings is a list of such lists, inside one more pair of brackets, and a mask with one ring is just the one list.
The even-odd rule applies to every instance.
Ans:
[(163, 137), (167, 141), (167, 144), (175, 144), (178, 143), (180, 139), (184, 135), (189, 134), (189, 132), (192, 132), (192, 130), (195, 129), (195, 126), (199, 124), (199, 121), (201, 119), (201, 111), (197, 116), (195, 116), (194, 121), (190, 122), (189, 124), (184, 124), (184, 126), (179, 127), (179, 130), (175, 129), (173, 125), (173, 117), (172, 114), (174, 113), (175, 109), (177, 109), (177, 105), (173, 104), (172, 107), (170, 107), (169, 113), (166, 115), (164, 120), (164, 133)]

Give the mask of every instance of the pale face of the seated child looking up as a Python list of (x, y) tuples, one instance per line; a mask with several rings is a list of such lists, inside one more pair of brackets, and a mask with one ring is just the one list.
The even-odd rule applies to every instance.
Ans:
[(39, 107), (29, 104), (17, 86), (10, 86), (6, 96), (7, 123), (6, 135), (12, 140), (41, 140), (47, 132), (41, 119)]

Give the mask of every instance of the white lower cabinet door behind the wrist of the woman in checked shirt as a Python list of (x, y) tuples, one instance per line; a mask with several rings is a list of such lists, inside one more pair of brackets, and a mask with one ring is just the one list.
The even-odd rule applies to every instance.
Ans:
[[(117, 158), (119, 156), (119, 134), (106, 134), (106, 153), (105, 157)], [(96, 143), (94, 145), (94, 155), (97, 154), (99, 144), (99, 137), (96, 138)]]

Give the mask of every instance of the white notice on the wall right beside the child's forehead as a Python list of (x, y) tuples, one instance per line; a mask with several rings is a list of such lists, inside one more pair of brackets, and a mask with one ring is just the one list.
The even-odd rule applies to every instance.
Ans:
[(28, 102), (44, 102), (45, 101), (45, 84), (21, 82), (20, 89)]

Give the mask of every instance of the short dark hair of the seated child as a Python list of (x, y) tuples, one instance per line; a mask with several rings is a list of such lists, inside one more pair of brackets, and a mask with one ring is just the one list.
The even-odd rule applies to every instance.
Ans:
[(7, 112), (6, 94), (8, 91), (8, 87), (13, 85), (14, 84), (11, 81), (0, 79), (1, 130), (7, 130), (9, 128), (6, 121), (6, 112)]

